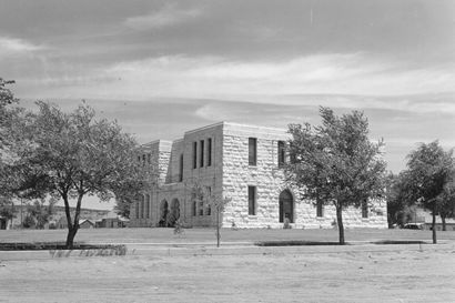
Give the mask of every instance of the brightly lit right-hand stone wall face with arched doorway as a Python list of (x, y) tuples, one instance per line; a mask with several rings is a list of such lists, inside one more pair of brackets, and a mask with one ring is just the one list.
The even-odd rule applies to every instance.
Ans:
[[(256, 138), (257, 163), (249, 165), (249, 138)], [(311, 201), (302, 201), (299, 190), (284, 182), (277, 164), (277, 142), (286, 141), (285, 130), (225, 123), (223, 139), (223, 194), (232, 202), (223, 214), (223, 225), (232, 222), (239, 228), (283, 228), (280, 223), (279, 198), (289, 190), (294, 200), (294, 228), (332, 228), (336, 222), (335, 209), (324, 206), (323, 216), (316, 216)], [(256, 186), (256, 214), (249, 214), (247, 186)], [(387, 228), (385, 201), (371, 202), (368, 218), (362, 210), (350, 208), (343, 212), (346, 228)]]

